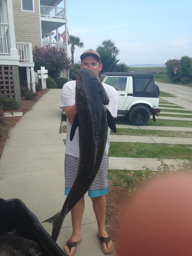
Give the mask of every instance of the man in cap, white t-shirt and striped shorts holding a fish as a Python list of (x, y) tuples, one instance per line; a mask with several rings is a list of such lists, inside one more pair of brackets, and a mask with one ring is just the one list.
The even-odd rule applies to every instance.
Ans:
[[(97, 77), (99, 76), (99, 72), (102, 69), (102, 63), (100, 63), (100, 56), (97, 51), (93, 49), (89, 49), (85, 51), (81, 56), (81, 70), (84, 68), (88, 68), (92, 70)], [(93, 73), (92, 72), (92, 73)], [(91, 75), (92, 75), (91, 73)], [(60, 108), (64, 109), (65, 114), (67, 116), (67, 137), (66, 137), (66, 151), (65, 151), (65, 195), (67, 195), (70, 191), (70, 188), (73, 184), (77, 168), (78, 168), (78, 161), (80, 161), (79, 156), (79, 133), (78, 124), (75, 125), (75, 115), (77, 113), (76, 109), (76, 98), (75, 96), (75, 83), (76, 81), (69, 81), (65, 85), (63, 85), (61, 99), (60, 99)], [(117, 107), (118, 107), (118, 96), (117, 91), (110, 85), (104, 84), (104, 91), (108, 95), (108, 102), (109, 105), (107, 107), (107, 121), (112, 123), (109, 127), (113, 130), (115, 126), (113, 124), (113, 120), (108, 120), (108, 116), (113, 118), (117, 117)], [(77, 87), (76, 87), (77, 90)], [(77, 92), (76, 92), (77, 93)], [(88, 94), (87, 94), (88, 95)], [(89, 96), (87, 96), (89, 97)], [(108, 104), (104, 103), (103, 105)], [(109, 110), (109, 111), (108, 111)], [(111, 117), (111, 118), (112, 118)], [(97, 119), (97, 117), (92, 117), (93, 119)], [(110, 119), (110, 117), (109, 117)], [(74, 129), (73, 129), (73, 126)], [(92, 125), (93, 126), (93, 125)], [(72, 129), (71, 129), (72, 127)], [(76, 128), (77, 127), (77, 128)], [(80, 129), (80, 124), (79, 124)], [(116, 129), (116, 128), (115, 128)], [(74, 131), (72, 131), (74, 130)], [(97, 131), (94, 131), (97, 133)], [(71, 134), (70, 134), (71, 133)], [(110, 254), (114, 251), (114, 245), (111, 238), (108, 236), (107, 231), (105, 229), (105, 219), (106, 219), (106, 198), (105, 194), (108, 193), (108, 183), (107, 183), (107, 174), (108, 174), (108, 149), (109, 149), (109, 134), (110, 129), (107, 132), (106, 138), (106, 147), (104, 150), (104, 154), (102, 157), (102, 162), (97, 172), (97, 175), (89, 187), (88, 195), (92, 198), (93, 202), (93, 209), (97, 219), (98, 225), (98, 232), (97, 237), (101, 241), (101, 248), (104, 253)], [(72, 139), (72, 141), (71, 141)], [(87, 161), (90, 158), (89, 155), (86, 156)], [(82, 184), (83, 186), (83, 184)], [(77, 202), (77, 204), (71, 209), (71, 219), (72, 219), (72, 226), (73, 226), (73, 233), (70, 239), (67, 241), (66, 245), (64, 246), (64, 251), (66, 255), (72, 256), (75, 253), (76, 246), (81, 241), (81, 221), (83, 217), (84, 211), (84, 196)]]

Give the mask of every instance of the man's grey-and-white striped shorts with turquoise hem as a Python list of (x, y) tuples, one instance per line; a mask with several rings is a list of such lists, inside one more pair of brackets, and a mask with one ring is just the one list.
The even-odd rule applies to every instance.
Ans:
[[(65, 154), (65, 195), (69, 193), (73, 184), (77, 172), (78, 161), (78, 158)], [(107, 182), (108, 167), (108, 155), (103, 155), (101, 166), (99, 167), (98, 173), (88, 190), (89, 197), (99, 197), (109, 192)]]

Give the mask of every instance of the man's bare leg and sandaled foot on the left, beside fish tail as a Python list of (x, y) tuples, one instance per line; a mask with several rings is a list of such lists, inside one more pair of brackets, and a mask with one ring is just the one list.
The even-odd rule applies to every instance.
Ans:
[[(81, 221), (83, 218), (83, 212), (85, 208), (85, 200), (82, 197), (79, 202), (71, 209), (71, 221), (73, 226), (73, 233), (70, 237), (70, 242), (78, 242), (81, 239)], [(75, 250), (75, 247), (71, 247), (69, 252), (69, 247), (64, 246), (64, 251), (66, 255), (71, 256)]]

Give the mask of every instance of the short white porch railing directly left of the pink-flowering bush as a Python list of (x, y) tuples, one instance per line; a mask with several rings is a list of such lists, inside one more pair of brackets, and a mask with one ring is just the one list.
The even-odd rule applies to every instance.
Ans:
[(18, 43), (16, 48), (20, 57), (19, 62), (33, 62), (33, 52), (31, 43)]

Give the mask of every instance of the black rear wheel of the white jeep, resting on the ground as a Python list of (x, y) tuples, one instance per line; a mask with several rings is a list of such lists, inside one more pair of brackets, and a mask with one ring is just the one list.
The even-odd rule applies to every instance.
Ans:
[(133, 125), (145, 125), (149, 119), (150, 112), (145, 106), (135, 106), (129, 111), (129, 121)]

